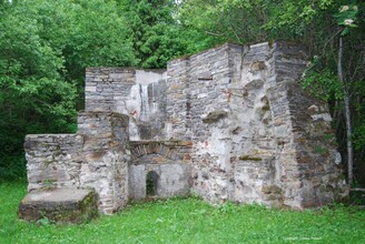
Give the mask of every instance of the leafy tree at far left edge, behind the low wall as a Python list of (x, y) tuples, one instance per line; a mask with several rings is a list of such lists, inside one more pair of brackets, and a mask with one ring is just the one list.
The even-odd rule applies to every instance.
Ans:
[(24, 172), (26, 134), (73, 130), (76, 89), (58, 72), (63, 60), (40, 38), (26, 4), (7, 6), (0, 14), (0, 179), (13, 179)]

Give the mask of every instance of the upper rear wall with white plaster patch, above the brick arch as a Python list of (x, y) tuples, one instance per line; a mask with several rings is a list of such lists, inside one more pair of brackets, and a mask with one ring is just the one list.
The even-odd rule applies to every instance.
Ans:
[(129, 115), (130, 140), (165, 139), (166, 71), (88, 68), (86, 111)]

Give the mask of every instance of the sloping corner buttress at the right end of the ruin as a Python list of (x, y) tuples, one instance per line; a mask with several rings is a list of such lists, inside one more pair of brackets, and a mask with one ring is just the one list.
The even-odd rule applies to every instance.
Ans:
[(306, 52), (299, 44), (274, 43), (275, 82), (269, 102), (282, 165), (284, 205), (320, 206), (345, 196), (346, 185), (335, 164), (336, 139), (324, 102), (302, 88)]

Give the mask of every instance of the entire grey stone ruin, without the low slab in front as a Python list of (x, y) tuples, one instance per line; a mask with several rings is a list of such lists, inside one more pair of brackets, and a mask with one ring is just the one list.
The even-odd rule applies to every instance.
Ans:
[(327, 108), (298, 83), (306, 58), (287, 42), (228, 43), (167, 71), (90, 68), (78, 133), (27, 136), (29, 190), (91, 186), (111, 213), (145, 197), (154, 171), (161, 197), (191, 189), (294, 209), (344, 197)]

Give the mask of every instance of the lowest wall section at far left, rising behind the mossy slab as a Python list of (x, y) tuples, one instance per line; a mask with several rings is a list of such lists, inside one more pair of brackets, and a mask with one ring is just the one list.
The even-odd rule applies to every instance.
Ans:
[(82, 144), (78, 134), (27, 135), (28, 191), (80, 186)]

